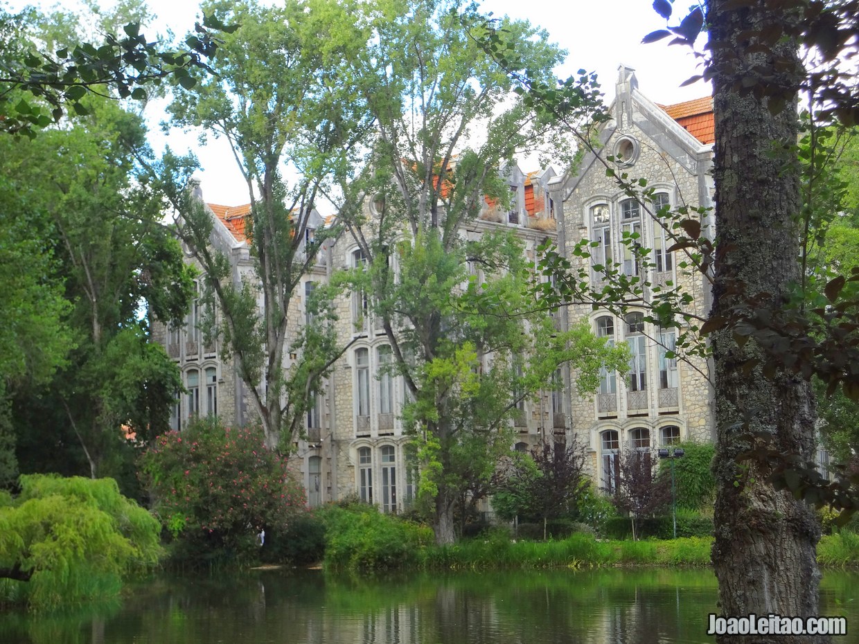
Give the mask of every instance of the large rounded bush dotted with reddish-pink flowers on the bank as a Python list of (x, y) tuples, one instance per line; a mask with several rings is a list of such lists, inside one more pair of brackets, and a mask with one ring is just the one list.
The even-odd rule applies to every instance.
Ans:
[(181, 434), (158, 436), (141, 468), (181, 561), (252, 561), (260, 528), (286, 534), (304, 512), (301, 485), (258, 429), (200, 419)]

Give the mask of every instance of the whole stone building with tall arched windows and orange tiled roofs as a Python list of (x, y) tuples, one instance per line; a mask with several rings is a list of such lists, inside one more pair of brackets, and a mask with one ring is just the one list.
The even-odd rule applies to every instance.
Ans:
[[(622, 155), (622, 165), (636, 176), (646, 177), (657, 197), (671, 205), (710, 205), (712, 156), (712, 112), (709, 99), (662, 107), (637, 89), (634, 71), (621, 67), (618, 95), (611, 107), (613, 119), (601, 131), (605, 150)], [(685, 274), (667, 252), (667, 240), (649, 218), (631, 204), (612, 179), (606, 177), (594, 155), (586, 155), (575, 176), (557, 176), (551, 168), (524, 173), (507, 167), (503, 176), (513, 193), (510, 210), (487, 203), (478, 219), (460, 234), (477, 239), (497, 227), (515, 230), (527, 255), (536, 260), (536, 249), (544, 240), (556, 241), (569, 251), (578, 240), (599, 240), (601, 258), (617, 258), (633, 274), (635, 263), (623, 260), (618, 239), (623, 230), (636, 230), (641, 243), (653, 248), (653, 283), (671, 280), (695, 294), (693, 307), (704, 315), (710, 306), (709, 292), (700, 277)], [(661, 204), (662, 202), (660, 202)], [(250, 277), (253, 264), (244, 234), (249, 206), (207, 204), (215, 227), (211, 243), (228, 253), (233, 279)], [(369, 215), (374, 205), (369, 204)], [(326, 222), (314, 215), (314, 226)], [(711, 234), (704, 222), (704, 234)], [(597, 257), (594, 254), (594, 257)], [(192, 261), (189, 255), (189, 261)], [(333, 271), (355, 268), (364, 261), (350, 235), (341, 234), (320, 249), (316, 263), (303, 278), (295, 294), (295, 328), (313, 324), (304, 302), (314, 287)], [(597, 272), (594, 280), (599, 280)], [(406, 399), (401, 377), (387, 374), (392, 360), (387, 337), (372, 307), (360, 292), (345, 293), (334, 302), (338, 335), (348, 349), (335, 363), (332, 373), (306, 418), (306, 438), (293, 447), (292, 462), (308, 490), (308, 502), (317, 505), (347, 494), (357, 494), (379, 505), (383, 511), (408, 507), (416, 493), (414, 472), (405, 459), (407, 440), (399, 416)], [(626, 319), (590, 307), (570, 306), (555, 315), (559, 327), (588, 319), (594, 331), (615, 343), (630, 343), (633, 369), (626, 378), (603, 374), (600, 393), (579, 398), (570, 392), (575, 374), (558, 370), (554, 390), (521, 404), (513, 421), (515, 448), (526, 451), (541, 439), (571, 440), (584, 437), (592, 455), (594, 477), (600, 486), (612, 489), (617, 454), (624, 446), (656, 447), (676, 440), (710, 440), (713, 428), (712, 396), (707, 384), (706, 364), (694, 368), (668, 360), (672, 331), (644, 324), (635, 309)], [(171, 424), (182, 428), (193, 415), (216, 413), (227, 423), (242, 424), (253, 417), (253, 406), (244, 383), (232, 364), (214, 344), (205, 346), (198, 329), (202, 313), (198, 304), (184, 328), (155, 325), (155, 341), (165, 344), (178, 361), (188, 390), (174, 408)], [(284, 358), (287, 360), (288, 358)], [(615, 472), (615, 473), (612, 473)]]

